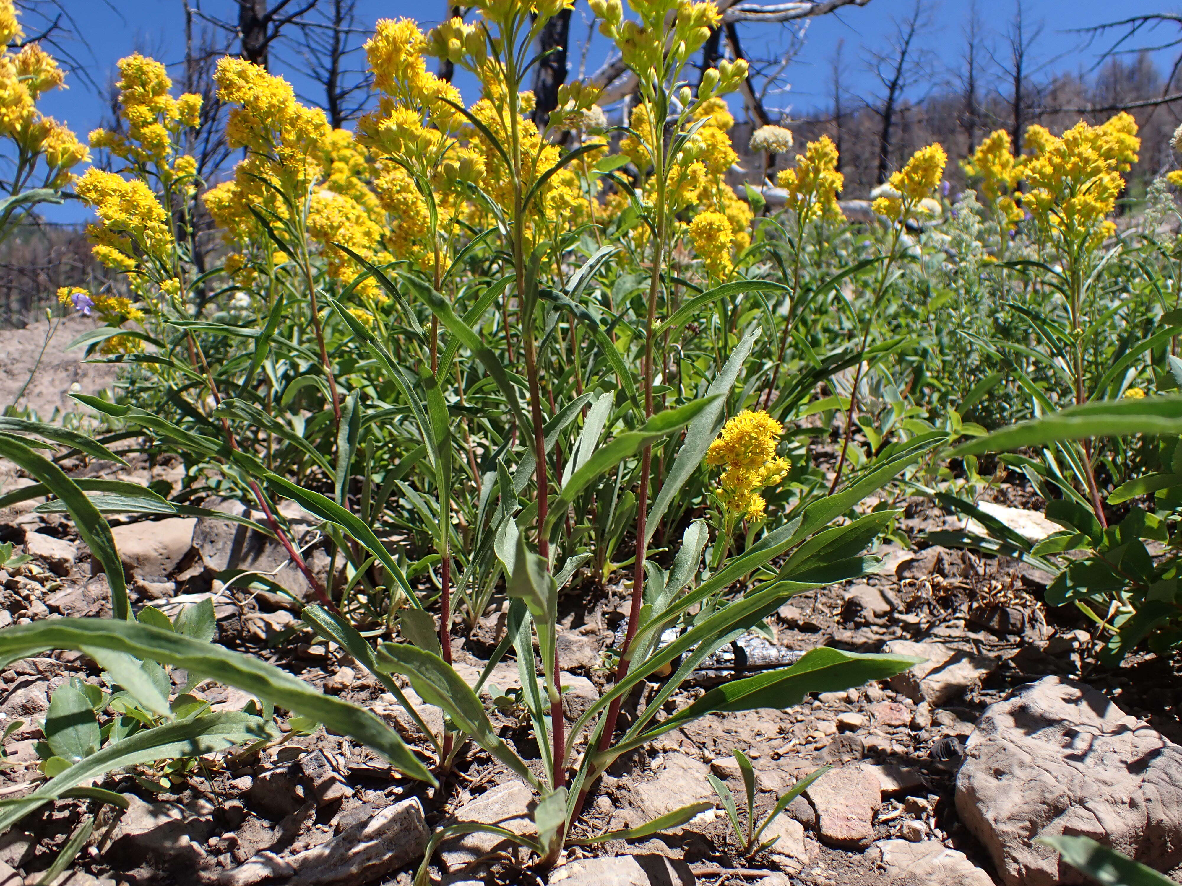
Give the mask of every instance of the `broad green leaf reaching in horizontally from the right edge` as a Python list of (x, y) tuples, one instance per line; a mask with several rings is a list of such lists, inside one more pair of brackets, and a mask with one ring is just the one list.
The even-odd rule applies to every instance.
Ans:
[(1128, 437), (1134, 434), (1182, 434), (1182, 397), (1099, 400), (1069, 406), (1043, 418), (1019, 422), (978, 437), (949, 457), (1006, 452), (1089, 437)]

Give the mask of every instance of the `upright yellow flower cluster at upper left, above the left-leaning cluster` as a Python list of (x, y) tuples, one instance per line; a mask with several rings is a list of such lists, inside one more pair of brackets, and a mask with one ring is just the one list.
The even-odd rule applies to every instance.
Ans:
[[(171, 95), (173, 80), (164, 65), (138, 52), (119, 59), (119, 116), (128, 123), (126, 135), (105, 129), (90, 133), (91, 148), (105, 148), (129, 163), (155, 165), (165, 180), (174, 169), (169, 158), (184, 128), (196, 126), (201, 117), (201, 96), (187, 92)], [(186, 157), (177, 177), (191, 176), (196, 164)]]

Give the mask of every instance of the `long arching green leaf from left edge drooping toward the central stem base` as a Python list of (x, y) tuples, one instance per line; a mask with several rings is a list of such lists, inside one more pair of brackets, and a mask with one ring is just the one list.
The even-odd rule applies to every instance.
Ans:
[(4, 665), (47, 649), (106, 649), (183, 667), (319, 723), (330, 723), (336, 731), (384, 754), (403, 774), (435, 784), (435, 777), (402, 738), (370, 711), (326, 696), (253, 656), (115, 619), (59, 618), (12, 625), (0, 632), (0, 663)]

